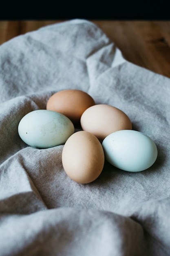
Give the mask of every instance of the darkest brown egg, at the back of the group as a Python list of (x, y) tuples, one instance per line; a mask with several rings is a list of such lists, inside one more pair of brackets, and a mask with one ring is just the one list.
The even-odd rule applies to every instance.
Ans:
[(75, 124), (80, 122), (83, 112), (93, 105), (94, 99), (86, 92), (68, 89), (53, 94), (46, 104), (46, 109), (60, 112)]

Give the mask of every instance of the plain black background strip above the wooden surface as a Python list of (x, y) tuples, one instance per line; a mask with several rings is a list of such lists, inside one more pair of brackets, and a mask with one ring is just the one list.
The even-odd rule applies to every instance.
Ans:
[(169, 2), (1, 0), (0, 20), (170, 20)]

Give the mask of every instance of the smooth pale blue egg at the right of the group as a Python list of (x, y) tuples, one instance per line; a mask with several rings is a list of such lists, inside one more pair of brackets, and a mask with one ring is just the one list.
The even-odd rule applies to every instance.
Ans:
[(136, 130), (119, 130), (102, 142), (106, 160), (129, 172), (139, 172), (152, 166), (158, 155), (155, 142)]

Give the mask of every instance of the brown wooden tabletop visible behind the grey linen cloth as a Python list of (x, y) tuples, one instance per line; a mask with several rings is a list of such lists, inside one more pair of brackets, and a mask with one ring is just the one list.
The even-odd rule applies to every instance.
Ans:
[[(64, 20), (0, 21), (0, 45), (11, 38)], [(170, 78), (170, 21), (91, 20), (141, 67)]]

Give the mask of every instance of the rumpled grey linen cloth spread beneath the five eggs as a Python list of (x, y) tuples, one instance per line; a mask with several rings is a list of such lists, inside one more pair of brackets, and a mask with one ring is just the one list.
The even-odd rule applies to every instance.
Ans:
[[(63, 145), (24, 144), (20, 119), (68, 88), (123, 110), (155, 141), (155, 164), (130, 173), (105, 162), (78, 184)], [(125, 61), (93, 23), (70, 20), (0, 46), (0, 92), (0, 256), (170, 255), (170, 79)]]

